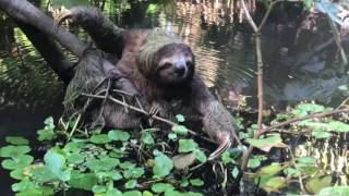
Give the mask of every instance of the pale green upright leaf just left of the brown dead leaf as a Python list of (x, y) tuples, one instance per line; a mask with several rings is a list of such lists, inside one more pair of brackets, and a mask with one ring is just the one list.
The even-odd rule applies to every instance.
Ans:
[(173, 169), (173, 162), (164, 154), (158, 154), (154, 159), (153, 173), (156, 179), (161, 179)]

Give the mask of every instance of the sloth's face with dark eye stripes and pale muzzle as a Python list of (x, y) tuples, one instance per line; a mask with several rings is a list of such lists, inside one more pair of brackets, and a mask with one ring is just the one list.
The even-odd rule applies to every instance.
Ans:
[(157, 51), (155, 81), (163, 85), (176, 85), (190, 81), (195, 70), (192, 50), (183, 44), (166, 45)]

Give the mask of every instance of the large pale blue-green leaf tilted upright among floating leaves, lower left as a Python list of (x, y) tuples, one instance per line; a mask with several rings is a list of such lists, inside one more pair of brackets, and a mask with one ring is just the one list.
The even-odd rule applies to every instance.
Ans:
[(70, 180), (70, 170), (65, 168), (65, 157), (61, 149), (51, 148), (44, 157), (47, 168), (61, 181)]

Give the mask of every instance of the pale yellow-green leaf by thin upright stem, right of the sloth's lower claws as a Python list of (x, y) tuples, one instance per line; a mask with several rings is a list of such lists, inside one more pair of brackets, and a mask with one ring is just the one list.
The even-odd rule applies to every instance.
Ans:
[(282, 144), (282, 139), (279, 134), (261, 139), (248, 138), (246, 142), (266, 152), (268, 152), (273, 147), (278, 147)]

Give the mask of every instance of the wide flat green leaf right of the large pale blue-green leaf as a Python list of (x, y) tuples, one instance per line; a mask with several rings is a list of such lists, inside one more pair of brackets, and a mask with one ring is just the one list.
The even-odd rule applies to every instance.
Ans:
[(86, 166), (92, 171), (110, 171), (120, 163), (119, 159), (104, 157), (100, 159), (89, 159)]

